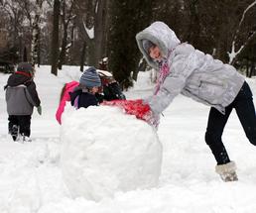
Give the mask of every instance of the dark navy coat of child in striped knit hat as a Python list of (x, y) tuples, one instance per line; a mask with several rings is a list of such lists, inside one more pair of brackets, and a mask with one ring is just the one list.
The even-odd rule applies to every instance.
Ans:
[(74, 89), (73, 92), (69, 93), (70, 95), (70, 101), (71, 105), (74, 105), (74, 100), (77, 96), (78, 97), (78, 106), (77, 108), (79, 109), (80, 107), (87, 108), (88, 106), (97, 106), (99, 104), (99, 101), (97, 100), (96, 96), (82, 90), (81, 88), (77, 87)]

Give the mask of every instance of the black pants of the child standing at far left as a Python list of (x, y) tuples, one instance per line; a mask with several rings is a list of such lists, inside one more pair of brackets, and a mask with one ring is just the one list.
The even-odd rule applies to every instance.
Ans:
[(11, 132), (13, 126), (16, 125), (21, 135), (30, 137), (31, 115), (9, 115), (8, 120), (9, 132)]

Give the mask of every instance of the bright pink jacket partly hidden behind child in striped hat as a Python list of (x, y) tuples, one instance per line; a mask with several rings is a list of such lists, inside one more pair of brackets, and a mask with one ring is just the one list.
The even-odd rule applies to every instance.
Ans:
[(70, 101), (69, 92), (72, 92), (73, 89), (78, 85), (79, 85), (79, 82), (77, 82), (77, 81), (71, 81), (71, 82), (64, 84), (60, 104), (59, 104), (58, 110), (56, 112), (56, 119), (59, 122), (59, 124), (62, 124), (62, 114), (64, 112), (65, 102)]

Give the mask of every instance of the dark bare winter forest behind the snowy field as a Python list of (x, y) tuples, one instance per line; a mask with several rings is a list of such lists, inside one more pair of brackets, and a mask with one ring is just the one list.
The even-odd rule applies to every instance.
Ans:
[(163, 21), (182, 42), (256, 75), (254, 0), (0, 0), (0, 63), (107, 69), (123, 88), (146, 63), (135, 35)]

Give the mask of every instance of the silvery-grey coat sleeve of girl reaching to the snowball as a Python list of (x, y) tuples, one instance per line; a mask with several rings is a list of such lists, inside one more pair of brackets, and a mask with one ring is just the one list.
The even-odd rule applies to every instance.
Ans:
[(160, 86), (157, 95), (145, 99), (155, 114), (162, 113), (186, 86), (188, 77), (197, 68), (196, 54), (177, 55), (170, 66), (170, 74)]

